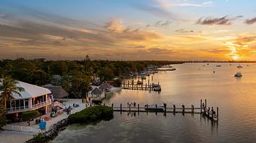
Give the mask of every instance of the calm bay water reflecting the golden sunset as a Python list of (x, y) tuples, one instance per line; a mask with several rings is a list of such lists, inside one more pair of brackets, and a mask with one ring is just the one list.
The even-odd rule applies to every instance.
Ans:
[[(200, 99), (207, 99), (207, 105), (220, 109), (218, 124), (200, 115), (115, 112), (113, 120), (96, 126), (69, 127), (53, 142), (256, 142), (256, 64), (241, 64), (241, 70), (236, 68), (238, 64), (215, 65), (175, 65), (175, 71), (154, 75), (153, 82), (162, 87), (160, 94), (122, 90), (105, 103), (135, 101), (181, 107), (200, 106)], [(233, 77), (238, 71), (242, 72), (240, 79)]]

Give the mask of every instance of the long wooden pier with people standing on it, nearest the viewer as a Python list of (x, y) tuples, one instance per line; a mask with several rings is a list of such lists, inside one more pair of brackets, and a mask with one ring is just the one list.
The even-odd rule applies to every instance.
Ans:
[(190, 113), (190, 114), (200, 114), (205, 116), (211, 121), (218, 121), (218, 107), (216, 108), (216, 111), (213, 107), (207, 107), (206, 100), (204, 103), (202, 103), (202, 100), (200, 100), (200, 107), (195, 107), (194, 105), (190, 106), (184, 106), (181, 107), (175, 106), (175, 105), (167, 105), (166, 103), (163, 103), (163, 105), (144, 105), (141, 106), (137, 104), (136, 106), (129, 104), (126, 106), (123, 106), (122, 104), (111, 104), (110, 106), (114, 112), (162, 112), (163, 114), (166, 113)]

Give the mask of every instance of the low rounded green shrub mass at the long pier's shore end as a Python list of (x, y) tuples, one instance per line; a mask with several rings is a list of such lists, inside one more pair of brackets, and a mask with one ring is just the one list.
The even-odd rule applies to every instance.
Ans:
[(91, 106), (81, 112), (69, 115), (69, 124), (94, 124), (109, 121), (114, 117), (113, 109), (108, 106)]

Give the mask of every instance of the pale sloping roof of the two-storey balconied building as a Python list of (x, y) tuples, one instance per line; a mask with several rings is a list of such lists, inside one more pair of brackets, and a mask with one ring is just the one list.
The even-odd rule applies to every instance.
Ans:
[(14, 94), (14, 99), (19, 100), (19, 99), (28, 99), (32, 97), (39, 97), (45, 94), (51, 94), (50, 90), (47, 88), (42, 88), (37, 85), (31, 85), (26, 82), (20, 82), (17, 81), (17, 87), (24, 88), (25, 91), (20, 92), (21, 97), (18, 94)]

